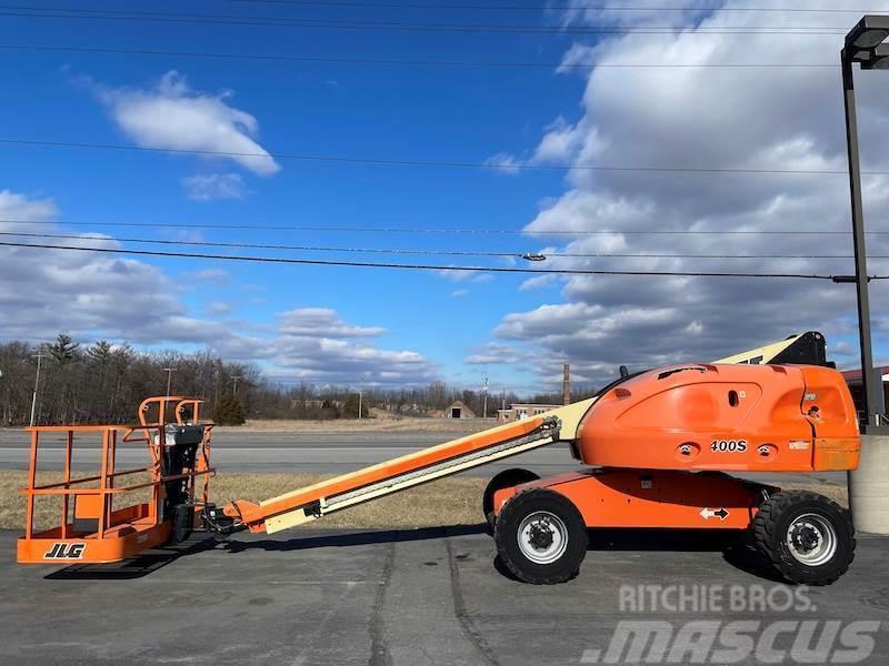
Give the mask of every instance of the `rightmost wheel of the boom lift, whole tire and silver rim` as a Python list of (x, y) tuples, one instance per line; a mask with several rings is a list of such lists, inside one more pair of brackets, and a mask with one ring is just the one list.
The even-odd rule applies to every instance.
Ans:
[(830, 585), (855, 558), (855, 527), (836, 502), (806, 491), (776, 493), (753, 521), (757, 549), (791, 583)]

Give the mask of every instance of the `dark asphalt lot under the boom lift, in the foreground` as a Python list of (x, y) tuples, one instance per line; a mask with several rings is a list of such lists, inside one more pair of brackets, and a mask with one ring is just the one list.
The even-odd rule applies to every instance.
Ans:
[[(802, 591), (815, 609), (783, 610), (790, 588), (751, 573), (753, 561), (743, 551), (725, 555), (718, 539), (678, 533), (593, 536), (597, 545), (578, 578), (535, 587), (501, 573), (493, 543), (475, 527), (238, 535), (230, 546), (196, 542), (179, 557), (160, 553), (129, 567), (66, 569), (12, 564), (14, 534), (0, 532), (0, 663), (608, 663), (616, 629), (627, 620), (666, 622), (668, 632), (688, 622), (717, 629), (731, 622), (759, 623), (748, 632), (747, 652), (721, 662), (742, 664), (773, 659), (775, 650), (779, 658), (783, 653), (785, 664), (825, 663), (826, 654), (848, 657), (843, 636), (855, 644), (849, 633), (828, 636), (827, 652), (815, 660), (801, 652), (805, 640), (789, 650), (799, 635), (815, 646), (822, 632), (830, 633), (831, 620), (841, 623), (836, 625), (841, 630), (851, 622), (871, 622), (879, 628), (865, 628), (863, 652), (852, 654), (852, 663), (889, 663), (887, 538), (862, 536), (846, 577)], [(732, 612), (725, 602), (708, 602), (709, 608), (697, 613), (691, 607), (621, 613), (621, 585), (687, 591), (739, 585), (745, 594), (759, 587), (772, 595), (772, 604), (765, 612), (756, 604)], [(785, 633), (772, 643), (769, 627), (778, 620)], [(806, 634), (809, 629), (816, 633)], [(755, 645), (766, 652), (750, 655)], [(631, 663), (629, 653), (625, 657), (618, 662)]]

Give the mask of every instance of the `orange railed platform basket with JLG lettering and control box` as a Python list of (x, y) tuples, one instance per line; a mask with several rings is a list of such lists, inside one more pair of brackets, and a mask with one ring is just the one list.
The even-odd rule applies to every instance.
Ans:
[[(138, 425), (30, 427), (28, 487), (21, 491), (26, 497), (24, 537), (18, 542), (18, 561), (120, 562), (146, 548), (181, 541), (207, 502), (213, 473), (212, 424), (199, 423), (200, 406), (201, 401), (194, 398), (151, 397), (139, 407)], [(168, 421), (170, 412), (172, 420)], [(62, 480), (41, 483), (41, 442), (59, 436), (64, 450)], [(77, 445), (97, 438), (101, 442), (98, 474), (76, 476)], [(148, 450), (149, 465), (118, 470), (119, 447), (136, 445)], [(133, 503), (130, 498), (137, 495), (147, 495), (147, 501)], [(38, 532), (36, 503), (49, 498), (57, 500), (59, 524)]]

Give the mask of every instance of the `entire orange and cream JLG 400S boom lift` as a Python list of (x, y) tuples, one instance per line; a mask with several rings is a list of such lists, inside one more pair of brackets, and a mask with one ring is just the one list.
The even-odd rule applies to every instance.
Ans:
[[(424, 448), (296, 490), (259, 504), (208, 502), (210, 425), (198, 403), (153, 398), (132, 428), (102, 434), (102, 472), (71, 478), (67, 432), (64, 482), (38, 485), (32, 455), (26, 535), (19, 562), (114, 562), (144, 547), (183, 538), (192, 527), (230, 534), (274, 533), (328, 513), (517, 455), (568, 442), (587, 467), (538, 478), (525, 470), (495, 476), (482, 497), (503, 563), (529, 583), (575, 576), (588, 527), (733, 529), (751, 534), (780, 575), (795, 583), (832, 583), (849, 567), (855, 536), (849, 514), (811, 492), (785, 492), (728, 472), (812, 473), (853, 470), (859, 457), (856, 408), (840, 373), (825, 363), (823, 337), (806, 333), (712, 364), (625, 374), (593, 397), (516, 423)], [(765, 363), (765, 364), (762, 364)], [(167, 406), (176, 422), (166, 422)], [(58, 430), (58, 428), (57, 428)], [(116, 508), (131, 487), (116, 480), (118, 432), (148, 446), (147, 504)], [(200, 480), (204, 480), (200, 483)], [(98, 483), (83, 487), (87, 483)], [(33, 503), (61, 497), (59, 527), (34, 532)]]

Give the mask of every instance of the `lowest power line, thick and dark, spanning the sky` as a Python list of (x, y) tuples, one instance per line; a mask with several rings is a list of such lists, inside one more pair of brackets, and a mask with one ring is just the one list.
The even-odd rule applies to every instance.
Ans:
[[(833, 280), (833, 275), (818, 273), (728, 273), (711, 271), (606, 271), (598, 269), (517, 269), (505, 266), (453, 266), (437, 264), (403, 264), (368, 261), (339, 261), (323, 259), (294, 259), (283, 256), (246, 256), (241, 254), (209, 254), (197, 252), (161, 252), (154, 250), (130, 250), (118, 248), (87, 248), (82, 245), (47, 245), (42, 243), (13, 243), (0, 241), (0, 246), (30, 248), (37, 250), (64, 250), (71, 252), (101, 252), (107, 254), (134, 254), (141, 256), (166, 256), (179, 259), (211, 259), (219, 261), (303, 264), (317, 266), (353, 266), (367, 269), (401, 269), (414, 271), (455, 271), (478, 273), (521, 273), (551, 275), (638, 275), (661, 278), (787, 278), (797, 280)], [(886, 280), (889, 275), (873, 275), (869, 280)]]

